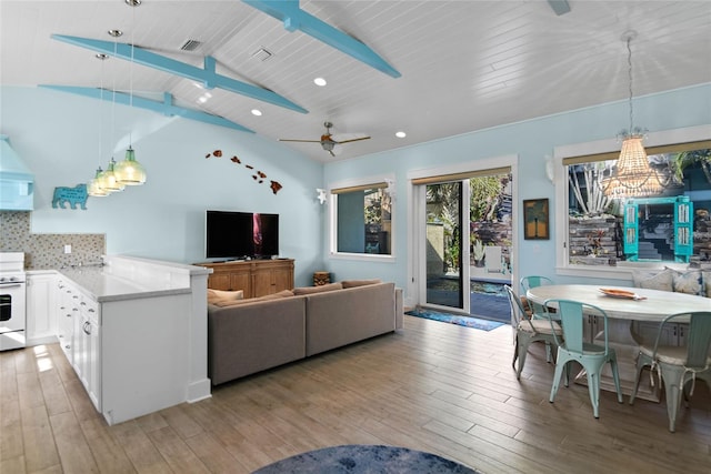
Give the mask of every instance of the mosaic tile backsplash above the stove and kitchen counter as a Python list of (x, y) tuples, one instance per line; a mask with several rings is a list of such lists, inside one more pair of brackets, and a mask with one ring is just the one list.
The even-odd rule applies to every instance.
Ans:
[[(31, 212), (0, 211), (0, 252), (24, 252), (26, 270), (96, 263), (106, 254), (104, 234), (33, 234)], [(71, 245), (71, 253), (64, 253)]]

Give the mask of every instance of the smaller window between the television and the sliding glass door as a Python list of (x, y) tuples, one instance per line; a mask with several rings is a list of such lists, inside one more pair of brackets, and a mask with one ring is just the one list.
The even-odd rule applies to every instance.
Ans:
[(331, 253), (392, 254), (392, 196), (388, 182), (331, 189)]

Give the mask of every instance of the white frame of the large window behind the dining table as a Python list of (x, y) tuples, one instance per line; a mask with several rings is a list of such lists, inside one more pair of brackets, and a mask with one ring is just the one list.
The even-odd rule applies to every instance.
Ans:
[[(644, 148), (683, 145), (689, 142), (711, 140), (711, 125), (689, 127), (683, 129), (664, 130), (649, 133), (644, 140)], [(553, 149), (553, 184), (555, 186), (555, 273), (564, 276), (604, 278), (607, 280), (627, 280), (632, 278), (632, 271), (650, 266), (665, 265), (670, 268), (685, 268), (688, 263), (675, 262), (618, 262), (617, 266), (575, 265), (570, 263), (568, 252), (568, 170), (563, 161), (579, 157), (594, 157), (603, 153), (619, 153), (620, 143), (615, 139), (599, 140), (585, 143), (574, 143), (555, 147)], [(593, 161), (593, 160), (591, 160)]]

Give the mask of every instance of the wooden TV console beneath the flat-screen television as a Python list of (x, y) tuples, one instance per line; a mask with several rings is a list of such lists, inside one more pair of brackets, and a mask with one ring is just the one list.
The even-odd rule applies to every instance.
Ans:
[(197, 265), (212, 269), (208, 288), (213, 290), (243, 290), (244, 297), (293, 290), (293, 259), (207, 262)]

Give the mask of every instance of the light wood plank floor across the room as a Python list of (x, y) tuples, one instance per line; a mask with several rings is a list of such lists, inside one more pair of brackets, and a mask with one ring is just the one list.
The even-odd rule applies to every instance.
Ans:
[(511, 329), (405, 316), (404, 331), (226, 384), (213, 396), (107, 426), (57, 344), (0, 353), (0, 473), (249, 473), (304, 451), (389, 444), (483, 473), (709, 473), (711, 395), (697, 384), (678, 432), (664, 404), (600, 418), (561, 386), (541, 346), (521, 382)]

